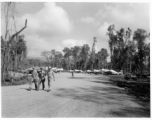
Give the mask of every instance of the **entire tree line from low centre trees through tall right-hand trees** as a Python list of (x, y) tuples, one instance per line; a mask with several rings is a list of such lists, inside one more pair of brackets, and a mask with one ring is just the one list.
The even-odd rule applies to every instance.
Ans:
[(109, 37), (111, 61), (107, 62), (109, 56), (107, 49), (102, 48), (99, 52), (93, 53), (88, 44), (83, 46), (65, 47), (63, 55), (54, 50), (43, 51), (42, 56), (47, 64), (53, 67), (63, 67), (66, 70), (75, 69), (114, 69), (123, 70), (124, 73), (143, 74), (150, 72), (150, 33), (144, 29), (137, 29), (132, 32), (130, 28), (116, 30), (115, 25), (107, 28)]

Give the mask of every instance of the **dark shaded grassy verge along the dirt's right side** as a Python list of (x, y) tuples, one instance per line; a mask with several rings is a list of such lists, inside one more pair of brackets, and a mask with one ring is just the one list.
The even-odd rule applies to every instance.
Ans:
[(134, 95), (141, 101), (150, 101), (150, 78), (125, 80), (123, 76), (112, 76), (110, 81), (125, 88), (127, 94)]

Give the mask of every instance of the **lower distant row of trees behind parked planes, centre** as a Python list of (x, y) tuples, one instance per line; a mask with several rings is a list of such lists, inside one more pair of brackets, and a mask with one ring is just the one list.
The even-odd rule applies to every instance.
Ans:
[[(47, 60), (47, 65), (52, 67), (64, 68), (70, 70), (71, 66), (75, 69), (87, 70), (92, 66), (92, 54), (88, 44), (83, 46), (74, 46), (71, 48), (65, 47), (63, 53), (56, 51), (43, 51), (42, 56)], [(102, 48), (98, 53), (94, 55), (93, 69), (101, 69), (107, 67), (108, 51)]]

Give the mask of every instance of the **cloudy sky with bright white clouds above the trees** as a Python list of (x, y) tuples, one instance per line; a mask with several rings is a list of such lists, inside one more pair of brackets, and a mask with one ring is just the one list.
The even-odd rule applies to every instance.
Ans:
[(16, 11), (17, 30), (28, 20), (21, 34), (25, 35), (29, 58), (42, 58), (44, 50), (62, 52), (64, 47), (76, 45), (88, 44), (91, 49), (93, 37), (97, 37), (96, 52), (101, 48), (109, 52), (106, 33), (111, 24), (117, 30), (150, 31), (148, 3), (26, 2), (19, 3)]

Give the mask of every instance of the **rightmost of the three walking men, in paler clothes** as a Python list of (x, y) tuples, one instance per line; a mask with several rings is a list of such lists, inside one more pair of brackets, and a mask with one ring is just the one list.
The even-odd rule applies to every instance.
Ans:
[(54, 81), (55, 81), (55, 76), (54, 76), (54, 73), (53, 73), (51, 67), (48, 67), (47, 75), (48, 75), (48, 92), (49, 92), (51, 90), (50, 89), (50, 87), (51, 87), (51, 80), (54, 79)]

